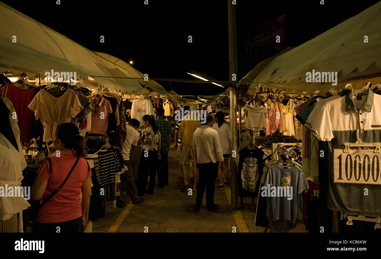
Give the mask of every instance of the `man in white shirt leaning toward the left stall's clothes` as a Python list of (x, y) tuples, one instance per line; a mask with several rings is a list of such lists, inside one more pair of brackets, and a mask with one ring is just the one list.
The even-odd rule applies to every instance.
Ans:
[(136, 119), (131, 119), (128, 121), (126, 126), (126, 139), (123, 143), (122, 155), (124, 159), (124, 164), (128, 168), (127, 171), (120, 175), (120, 181), (127, 189), (128, 194), (130, 194), (131, 202), (133, 204), (138, 204), (144, 201), (144, 198), (139, 197), (138, 189), (134, 181), (133, 168), (130, 164), (130, 151), (131, 146), (138, 145), (139, 132), (136, 130), (139, 128), (140, 122)]

